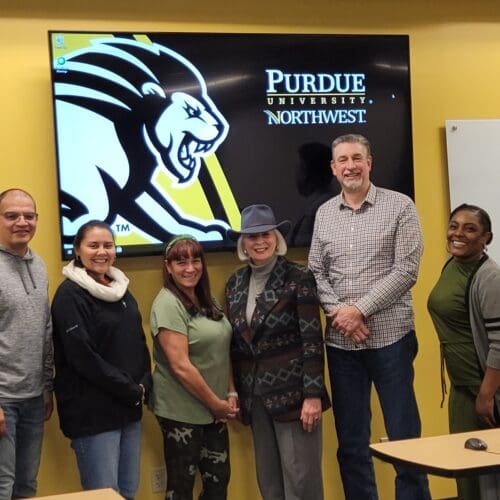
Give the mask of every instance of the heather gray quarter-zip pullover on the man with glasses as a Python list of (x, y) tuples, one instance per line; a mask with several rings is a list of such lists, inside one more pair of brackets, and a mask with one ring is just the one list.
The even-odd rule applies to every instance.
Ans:
[(0, 245), (0, 398), (28, 399), (52, 390), (48, 277), (30, 249)]

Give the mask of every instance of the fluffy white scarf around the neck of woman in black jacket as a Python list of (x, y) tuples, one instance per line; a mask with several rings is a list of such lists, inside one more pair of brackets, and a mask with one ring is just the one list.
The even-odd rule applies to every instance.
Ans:
[(127, 292), (129, 279), (116, 267), (110, 267), (106, 274), (113, 281), (109, 285), (102, 285), (89, 276), (83, 267), (75, 266), (74, 260), (63, 267), (63, 275), (87, 290), (92, 297), (105, 302), (118, 302)]

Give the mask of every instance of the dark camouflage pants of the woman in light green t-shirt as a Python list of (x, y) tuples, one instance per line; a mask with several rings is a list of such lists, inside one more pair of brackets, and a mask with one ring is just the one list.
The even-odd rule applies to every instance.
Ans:
[(203, 485), (199, 500), (226, 500), (230, 476), (226, 424), (195, 425), (157, 416), (167, 469), (165, 500), (192, 500), (196, 469)]

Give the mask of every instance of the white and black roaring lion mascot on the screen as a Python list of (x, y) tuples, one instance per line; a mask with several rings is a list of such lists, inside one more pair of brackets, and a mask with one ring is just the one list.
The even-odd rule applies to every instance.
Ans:
[[(229, 125), (198, 71), (177, 52), (128, 38), (96, 38), (54, 60), (65, 243), (90, 219), (125, 221), (146, 241), (189, 231), (223, 239), (224, 217), (203, 219), (155, 183), (199, 181)], [(210, 190), (209, 190), (210, 191)]]

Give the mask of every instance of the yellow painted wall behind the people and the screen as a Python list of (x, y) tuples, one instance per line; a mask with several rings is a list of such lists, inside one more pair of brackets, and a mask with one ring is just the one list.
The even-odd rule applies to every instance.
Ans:
[[(448, 185), (444, 120), (498, 118), (500, 115), (500, 23), (495, 0), (0, 0), (0, 190), (20, 186), (38, 201), (40, 222), (33, 247), (45, 259), (51, 293), (61, 281), (57, 224), (55, 152), (49, 83), (48, 29), (136, 31), (408, 33), (411, 47), (413, 143), (417, 208), (426, 241), (415, 287), (420, 354), (416, 390), (424, 435), (447, 431), (446, 410), (439, 408), (439, 352), (425, 303), (445, 259), (444, 228)], [(376, 163), (375, 168), (379, 165)], [(380, 168), (383, 166), (380, 165)], [(471, 168), (473, 166), (471, 165)], [(291, 252), (304, 260), (304, 251)], [(234, 256), (209, 256), (215, 292), (222, 295)], [(145, 328), (153, 296), (160, 287), (159, 258), (123, 259), (139, 300)], [(1, 367), (0, 367), (1, 369)], [(373, 438), (383, 436), (374, 404)], [(150, 468), (162, 464), (161, 436), (149, 413), (145, 419), (142, 482), (139, 499), (150, 493)], [(248, 429), (231, 426), (233, 476), (230, 498), (258, 498)], [(329, 414), (324, 426), (326, 498), (342, 498), (335, 460), (336, 440)], [(380, 498), (393, 498), (393, 472), (377, 461)], [(47, 426), (40, 471), (40, 494), (78, 489), (68, 441), (57, 418)], [(450, 480), (431, 480), (433, 496), (454, 492)]]

